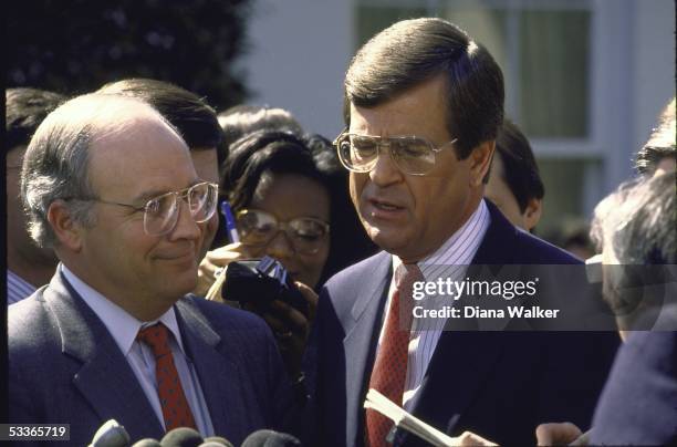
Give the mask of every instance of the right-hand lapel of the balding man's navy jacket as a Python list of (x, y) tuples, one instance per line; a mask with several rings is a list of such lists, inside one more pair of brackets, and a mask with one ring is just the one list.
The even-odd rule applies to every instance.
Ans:
[(226, 410), (228, 398), (239, 394), (236, 387), (239, 376), (237, 366), (221, 355), (217, 347), (221, 337), (204, 315), (188, 300), (180, 300), (175, 306), (186, 351), (197, 371), (202, 395), (209, 408), (211, 425), (216, 434), (231, 433), (233, 427), (247, 426), (244, 415), (232, 406)]

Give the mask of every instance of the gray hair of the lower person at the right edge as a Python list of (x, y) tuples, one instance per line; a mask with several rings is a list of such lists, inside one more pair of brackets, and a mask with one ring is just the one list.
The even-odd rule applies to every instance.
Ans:
[[(677, 263), (676, 196), (675, 171), (670, 171), (624, 184), (595, 208), (591, 236), (605, 258), (613, 254), (604, 266), (604, 299), (622, 329), (650, 329), (658, 321), (657, 312), (677, 309), (671, 291)], [(677, 321), (674, 318), (667, 321)]]

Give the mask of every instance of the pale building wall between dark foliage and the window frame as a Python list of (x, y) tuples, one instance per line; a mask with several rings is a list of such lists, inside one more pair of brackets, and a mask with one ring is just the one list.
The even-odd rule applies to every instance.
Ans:
[(287, 108), (308, 132), (333, 139), (353, 34), (352, 0), (257, 0), (243, 60), (256, 94), (249, 103)]

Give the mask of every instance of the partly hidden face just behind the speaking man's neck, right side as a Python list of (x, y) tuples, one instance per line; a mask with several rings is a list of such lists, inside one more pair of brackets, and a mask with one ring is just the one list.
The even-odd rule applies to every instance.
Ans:
[(514, 194), (506, 181), (504, 169), (503, 159), (497, 150), (493, 156), (489, 183), (485, 187), (485, 197), (491, 200), (512, 225), (531, 231), (541, 220), (542, 202), (540, 199), (531, 198), (524, 212), (522, 212)]

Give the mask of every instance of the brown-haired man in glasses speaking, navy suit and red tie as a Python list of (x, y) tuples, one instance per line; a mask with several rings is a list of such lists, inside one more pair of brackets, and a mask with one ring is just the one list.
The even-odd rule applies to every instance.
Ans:
[(503, 115), (491, 55), (444, 20), (402, 21), (357, 52), (344, 104), (337, 149), (361, 220), (385, 251), (321, 292), (308, 350), (310, 438), (385, 445), (392, 424), (363, 410), (368, 388), (442, 432), (501, 445), (533, 444), (533, 423), (566, 409), (590, 420), (613, 334), (478, 332), (470, 329), (483, 323), (472, 319), (420, 330), (399, 313), (412, 298), (402, 284), (412, 281), (462, 281), (488, 264), (580, 263), (482, 199)]

